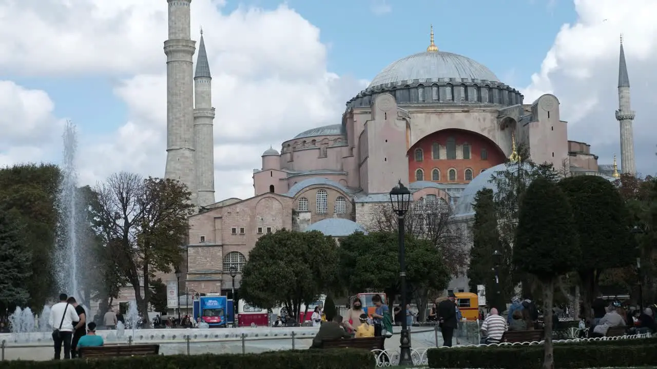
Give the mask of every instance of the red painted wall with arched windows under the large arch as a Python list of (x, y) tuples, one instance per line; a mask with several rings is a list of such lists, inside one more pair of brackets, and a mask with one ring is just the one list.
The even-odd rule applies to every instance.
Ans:
[[(457, 159), (447, 159), (446, 144), (447, 139), (453, 137), (456, 141)], [(432, 146), (438, 142), (441, 146), (440, 158), (434, 160), (432, 156)], [(470, 144), (470, 159), (463, 158), (463, 144)], [(415, 158), (415, 149), (421, 148), (423, 152), (422, 162), (417, 162)], [(487, 159), (482, 159), (482, 148), (486, 149)], [(440, 181), (436, 183), (468, 183), (465, 180), (466, 169), (472, 169), (472, 178), (481, 173), (482, 169), (488, 169), (495, 165), (504, 163), (506, 156), (497, 145), (479, 135), (470, 131), (461, 131), (458, 129), (444, 129), (434, 132), (420, 141), (418, 141), (408, 152), (409, 157), (409, 182), (415, 182), (415, 173), (417, 169), (424, 171), (424, 181), (432, 181), (432, 171), (434, 168), (440, 170)], [(454, 168), (457, 171), (456, 181), (449, 181), (449, 169)]]

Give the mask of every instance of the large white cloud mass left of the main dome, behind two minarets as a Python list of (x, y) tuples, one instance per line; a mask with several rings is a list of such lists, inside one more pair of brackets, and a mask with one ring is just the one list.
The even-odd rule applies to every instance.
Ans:
[[(253, 168), (260, 167), (260, 154), (270, 144), (277, 148), (300, 131), (339, 123), (344, 102), (366, 84), (330, 73), (319, 29), (285, 6), (273, 11), (240, 7), (225, 14), (218, 1), (194, 0), (191, 9), (192, 38), (198, 41), (202, 25), (213, 76), (216, 197), (252, 196)], [(7, 50), (0, 55), (3, 70), (26, 76), (120, 79), (114, 93), (125, 102), (129, 120), (110, 135), (79, 129), (81, 181), (95, 183), (121, 170), (164, 175), (166, 3), (0, 1), (0, 14), (9, 12), (14, 16), (0, 24), (0, 48)], [(30, 24), (30, 32), (16, 34), (22, 24)], [(37, 40), (40, 47), (26, 47)], [(37, 96), (48, 103), (40, 109), (53, 119), (53, 103), (41, 94)], [(20, 111), (39, 114), (41, 110), (25, 106)], [(32, 135), (12, 136), (39, 144)], [(59, 137), (60, 131), (55, 142)], [(39, 158), (37, 153), (30, 156), (16, 150), (0, 147), (0, 165)]]

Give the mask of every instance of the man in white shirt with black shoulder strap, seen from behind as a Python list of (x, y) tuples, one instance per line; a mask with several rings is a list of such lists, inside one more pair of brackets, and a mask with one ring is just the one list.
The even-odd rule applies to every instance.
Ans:
[(76, 308), (66, 302), (66, 293), (59, 295), (59, 302), (50, 310), (49, 324), (53, 327), (53, 341), (55, 342), (55, 360), (59, 360), (62, 354), (62, 343), (64, 344), (64, 358), (71, 358), (71, 339), (73, 337), (73, 322), (79, 322), (80, 318)]

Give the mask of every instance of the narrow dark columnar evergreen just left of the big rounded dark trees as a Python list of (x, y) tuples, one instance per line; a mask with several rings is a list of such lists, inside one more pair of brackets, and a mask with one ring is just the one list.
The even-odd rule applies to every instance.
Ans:
[[(512, 287), (512, 284), (504, 283), (501, 280), (499, 286), (495, 283), (493, 253), (496, 250), (502, 253), (504, 250), (497, 229), (493, 190), (490, 188), (479, 190), (474, 197), (473, 207), (472, 248), (470, 249), (470, 265), (468, 267), (470, 291), (476, 291), (477, 285), (483, 284), (486, 287), (487, 303), (491, 307), (497, 307), (501, 309), (500, 311), (504, 311), (502, 304), (507, 301), (505, 297), (509, 295), (510, 291), (506, 291), (508, 288), (501, 287)], [(509, 267), (506, 267), (505, 271), (509, 269)], [(498, 287), (500, 287), (500, 296), (497, 295)]]

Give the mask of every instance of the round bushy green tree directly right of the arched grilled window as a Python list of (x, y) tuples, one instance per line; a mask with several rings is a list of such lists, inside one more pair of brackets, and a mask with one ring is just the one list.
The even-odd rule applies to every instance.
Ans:
[(258, 239), (242, 270), (240, 294), (249, 304), (263, 308), (283, 305), (298, 317), (334, 286), (337, 258), (333, 238), (321, 232), (281, 229)]

